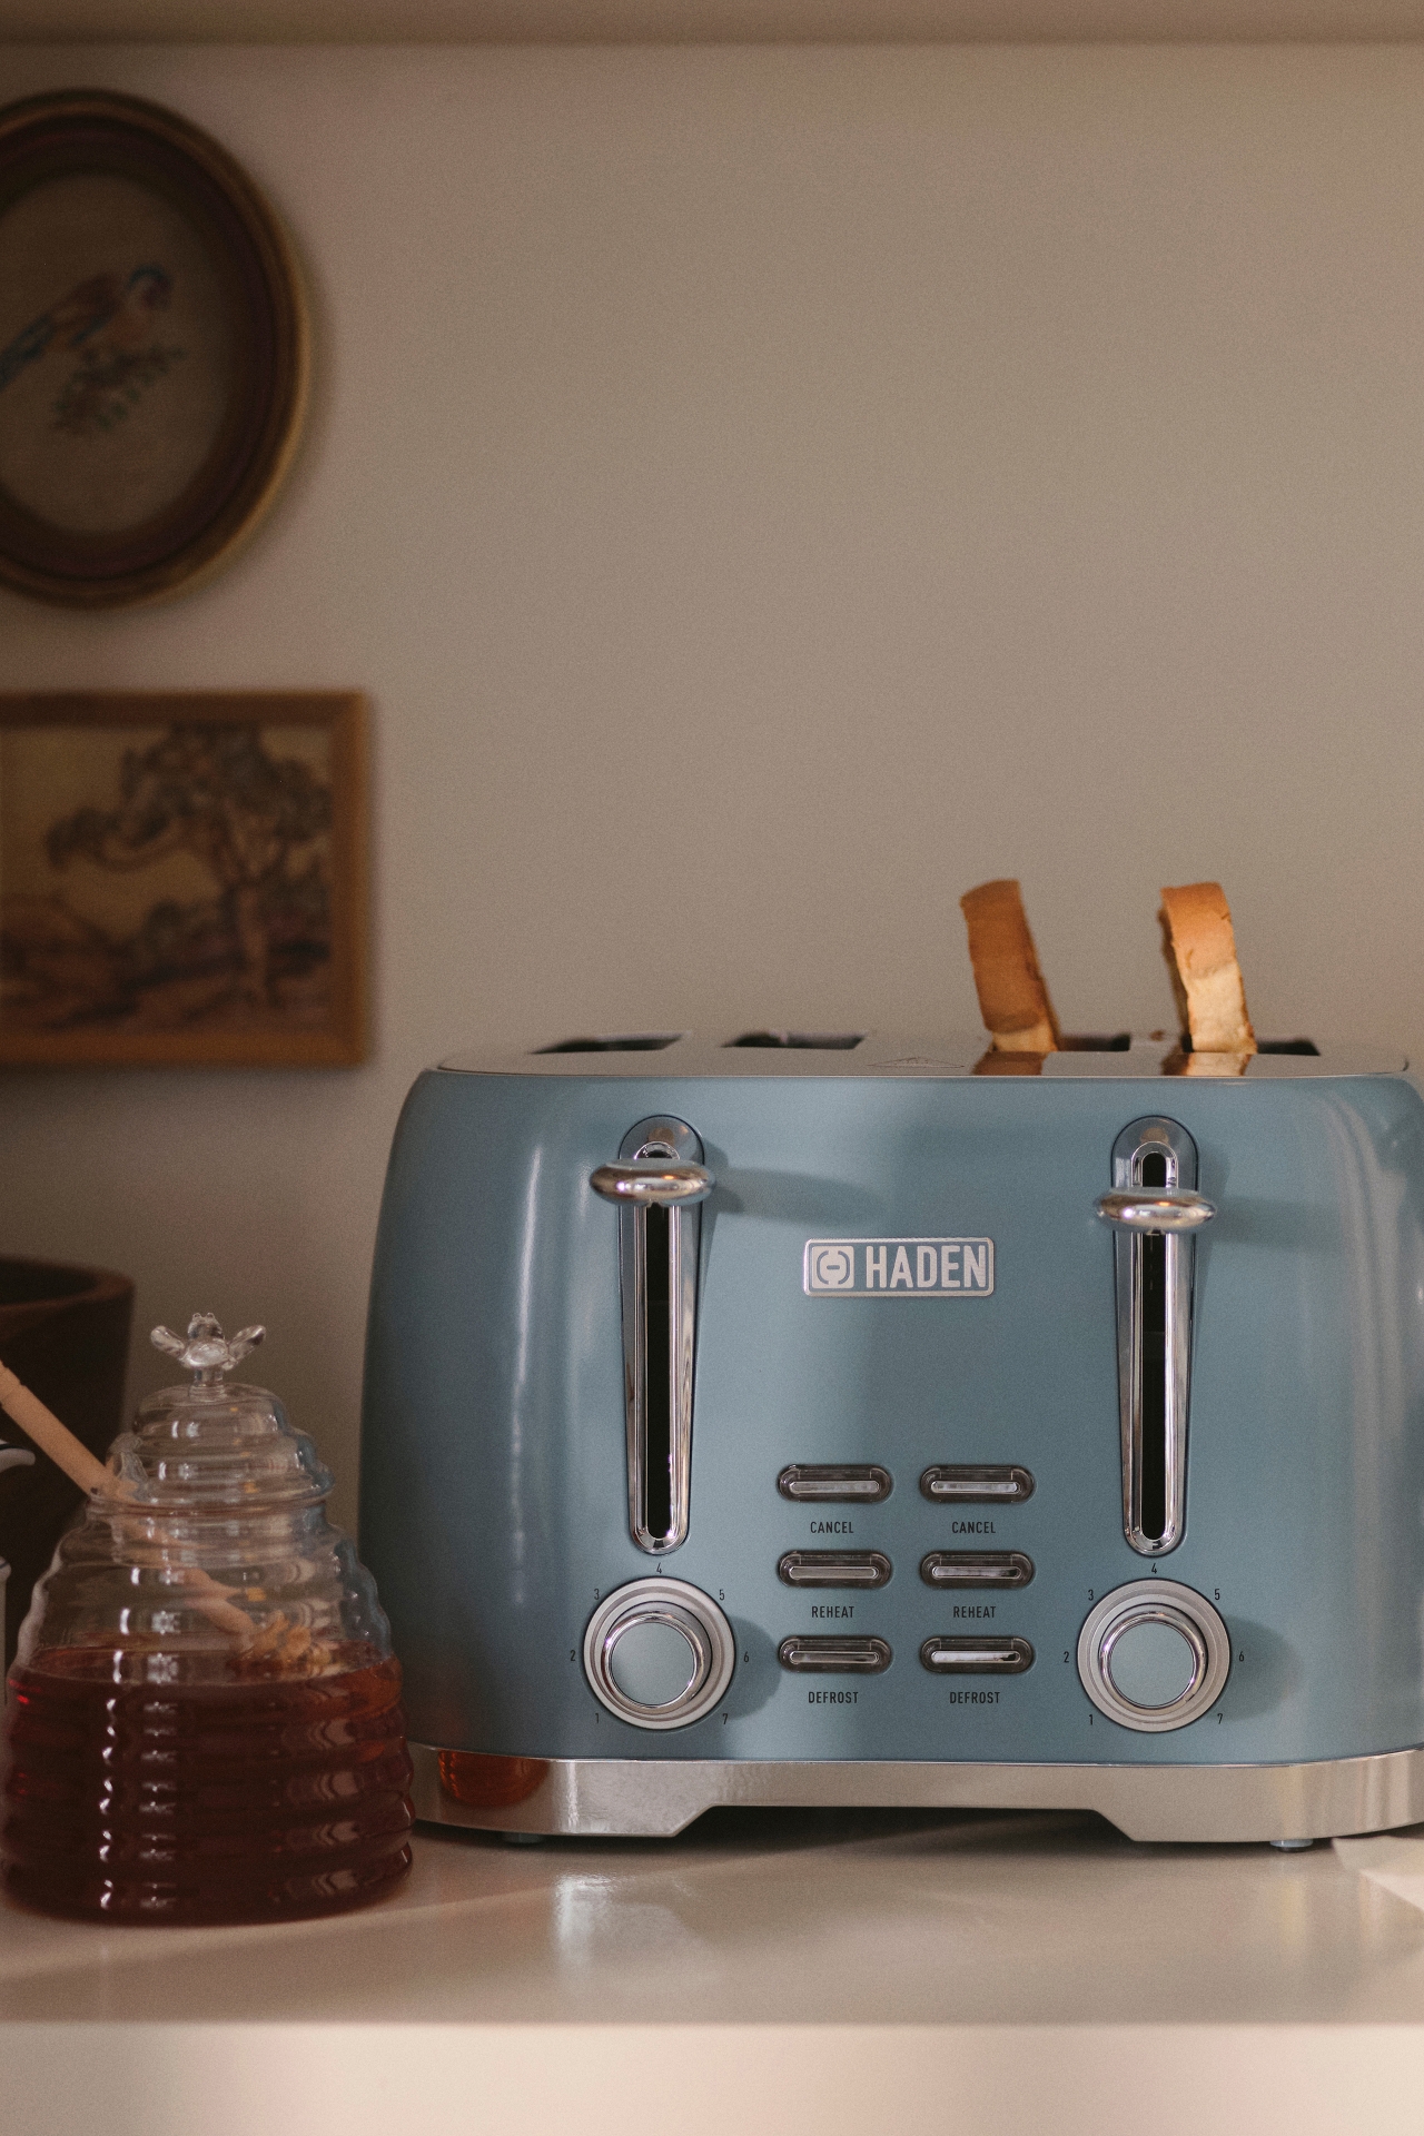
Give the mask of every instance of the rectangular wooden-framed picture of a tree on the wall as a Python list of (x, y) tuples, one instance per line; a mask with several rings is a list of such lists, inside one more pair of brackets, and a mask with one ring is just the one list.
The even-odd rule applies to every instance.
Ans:
[(0, 696), (0, 1066), (367, 1051), (359, 692)]

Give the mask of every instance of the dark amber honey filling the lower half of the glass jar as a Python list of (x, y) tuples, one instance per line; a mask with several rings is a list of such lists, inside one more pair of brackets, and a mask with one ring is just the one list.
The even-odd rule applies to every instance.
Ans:
[(47, 1914), (239, 1922), (333, 1914), (410, 1869), (399, 1662), (314, 1677), (115, 1681), (113, 1649), (11, 1672), (9, 1892)]

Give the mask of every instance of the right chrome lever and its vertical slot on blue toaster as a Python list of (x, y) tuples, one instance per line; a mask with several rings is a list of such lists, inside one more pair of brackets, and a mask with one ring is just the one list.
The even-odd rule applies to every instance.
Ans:
[(1142, 1557), (1174, 1551), (1187, 1514), (1196, 1232), (1217, 1213), (1196, 1162), (1174, 1119), (1134, 1119), (1112, 1145), (1112, 1192), (1093, 1203), (1114, 1230), (1123, 1534)]

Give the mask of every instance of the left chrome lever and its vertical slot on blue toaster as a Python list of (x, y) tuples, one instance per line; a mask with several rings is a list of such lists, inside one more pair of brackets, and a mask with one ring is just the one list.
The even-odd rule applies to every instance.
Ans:
[(589, 1185), (619, 1211), (628, 1527), (649, 1557), (687, 1540), (702, 1203), (715, 1181), (685, 1119), (640, 1119)]

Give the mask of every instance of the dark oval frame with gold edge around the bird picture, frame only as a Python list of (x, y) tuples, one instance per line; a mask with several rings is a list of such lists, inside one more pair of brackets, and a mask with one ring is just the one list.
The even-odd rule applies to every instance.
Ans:
[(0, 109), (0, 220), (36, 186), (77, 171), (115, 173), (177, 207), (233, 301), (237, 384), (216, 444), (171, 506), (113, 536), (79, 536), (0, 487), (0, 585), (70, 609), (132, 607), (211, 579), (271, 508), (301, 438), (312, 335), (290, 241), (211, 135), (107, 90)]

